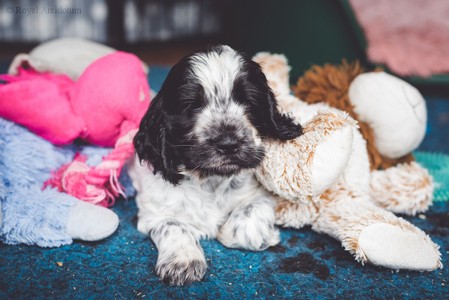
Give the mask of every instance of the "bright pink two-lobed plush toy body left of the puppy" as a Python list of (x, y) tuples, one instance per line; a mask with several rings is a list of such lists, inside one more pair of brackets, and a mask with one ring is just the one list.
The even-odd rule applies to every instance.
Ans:
[(122, 123), (138, 127), (150, 103), (141, 61), (124, 52), (96, 60), (77, 82), (65, 75), (24, 69), (0, 79), (8, 82), (0, 85), (0, 117), (57, 145), (80, 137), (113, 147)]

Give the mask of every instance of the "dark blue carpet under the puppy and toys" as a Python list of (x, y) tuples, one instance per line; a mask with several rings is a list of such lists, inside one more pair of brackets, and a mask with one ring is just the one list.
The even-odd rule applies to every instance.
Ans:
[[(158, 90), (166, 74), (166, 68), (153, 67), (151, 87)], [(449, 99), (427, 100), (428, 134), (420, 150), (449, 154)], [(208, 272), (203, 282), (186, 287), (166, 286), (156, 276), (157, 251), (136, 230), (134, 200), (120, 199), (112, 209), (120, 226), (101, 242), (54, 249), (0, 243), (0, 299), (443, 299), (449, 294), (448, 202), (435, 204), (421, 218), (407, 218), (441, 246), (443, 270), (362, 266), (330, 237), (310, 228), (282, 229), (282, 242), (264, 252), (202, 241)]]

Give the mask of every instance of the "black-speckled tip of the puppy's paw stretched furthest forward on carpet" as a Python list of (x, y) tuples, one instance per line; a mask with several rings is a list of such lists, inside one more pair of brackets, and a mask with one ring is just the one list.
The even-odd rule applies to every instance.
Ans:
[(186, 260), (172, 257), (156, 265), (156, 273), (161, 280), (169, 285), (185, 285), (200, 281), (207, 270), (204, 260)]

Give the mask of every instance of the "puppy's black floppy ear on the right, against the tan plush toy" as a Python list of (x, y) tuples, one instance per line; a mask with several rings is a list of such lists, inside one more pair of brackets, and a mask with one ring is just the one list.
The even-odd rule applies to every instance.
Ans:
[(253, 85), (253, 87), (245, 88), (248, 84), (243, 83), (240, 90), (243, 90), (243, 93), (252, 99), (249, 101), (251, 106), (250, 118), (259, 134), (263, 137), (278, 140), (290, 140), (300, 136), (302, 134), (301, 125), (296, 124), (289, 116), (281, 114), (277, 107), (276, 98), (268, 86), (267, 79), (260, 66), (249, 60), (247, 68), (248, 80), (252, 83), (250, 86)]

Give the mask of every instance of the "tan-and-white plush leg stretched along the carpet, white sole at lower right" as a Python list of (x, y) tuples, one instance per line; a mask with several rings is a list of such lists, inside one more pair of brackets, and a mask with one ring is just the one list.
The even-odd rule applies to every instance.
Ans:
[(420, 229), (340, 185), (321, 196), (312, 228), (343, 244), (362, 264), (431, 271), (441, 268), (438, 246)]

